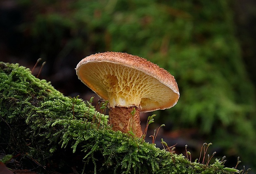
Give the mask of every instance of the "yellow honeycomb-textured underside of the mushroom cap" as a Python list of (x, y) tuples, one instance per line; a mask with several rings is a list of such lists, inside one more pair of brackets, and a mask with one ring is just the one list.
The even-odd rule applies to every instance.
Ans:
[[(169, 100), (172, 95), (171, 89), (159, 80), (133, 67), (109, 62), (92, 62), (83, 66), (82, 76), (90, 74), (84, 80), (85, 84), (100, 97), (109, 100), (111, 107), (140, 105), (143, 111), (152, 107), (153, 103), (157, 108), (161, 101)], [(152, 90), (154, 88), (156, 90)], [(170, 96), (166, 95), (166, 91)]]

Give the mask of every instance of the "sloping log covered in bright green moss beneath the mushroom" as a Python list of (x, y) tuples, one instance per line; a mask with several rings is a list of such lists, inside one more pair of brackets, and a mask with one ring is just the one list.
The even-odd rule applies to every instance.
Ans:
[[(0, 62), (0, 146), (36, 162), (39, 173), (228, 174), (113, 131), (90, 102), (65, 97), (18, 64)], [(63, 172), (64, 171), (64, 172)]]

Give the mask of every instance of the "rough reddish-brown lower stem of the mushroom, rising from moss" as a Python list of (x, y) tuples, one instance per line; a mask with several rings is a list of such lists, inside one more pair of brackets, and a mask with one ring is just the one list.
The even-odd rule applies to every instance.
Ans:
[[(135, 114), (132, 115), (131, 111), (135, 108)], [(140, 126), (140, 111), (141, 107), (109, 107), (109, 125), (112, 125), (113, 130), (120, 130), (123, 133), (127, 133), (132, 130), (137, 137), (142, 136), (142, 130)]]

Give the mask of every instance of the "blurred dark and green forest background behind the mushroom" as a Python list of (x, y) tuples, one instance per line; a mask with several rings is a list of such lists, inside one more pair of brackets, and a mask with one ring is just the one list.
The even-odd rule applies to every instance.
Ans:
[(175, 107), (154, 113), (148, 136), (164, 123), (158, 141), (177, 143), (177, 153), (187, 144), (194, 160), (211, 142), (210, 155), (227, 156), (230, 167), (239, 156), (255, 173), (255, 23), (251, 0), (3, 0), (0, 61), (32, 69), (42, 58), (35, 75), (46, 61), (41, 79), (89, 100), (95, 94), (74, 70), (82, 58), (105, 51), (147, 58), (180, 89)]

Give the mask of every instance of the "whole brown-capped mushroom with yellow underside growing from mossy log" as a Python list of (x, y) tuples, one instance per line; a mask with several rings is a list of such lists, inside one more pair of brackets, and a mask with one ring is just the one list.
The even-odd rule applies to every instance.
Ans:
[(113, 130), (132, 130), (142, 136), (140, 111), (173, 107), (179, 97), (174, 77), (145, 58), (128, 53), (90, 55), (76, 67), (78, 78), (99, 97), (109, 100), (109, 124)]

